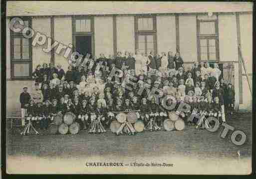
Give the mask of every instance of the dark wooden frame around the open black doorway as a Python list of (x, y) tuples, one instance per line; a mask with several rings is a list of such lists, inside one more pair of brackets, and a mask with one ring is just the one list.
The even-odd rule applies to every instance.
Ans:
[[(81, 19), (90, 19), (91, 20), (91, 31), (90, 32), (76, 32), (75, 28), (75, 21), (81, 20)], [(92, 54), (91, 57), (94, 57), (95, 55), (95, 41), (94, 41), (94, 16), (88, 16), (88, 15), (73, 15), (72, 16), (72, 45), (73, 45), (73, 51), (76, 51), (76, 36), (91, 36), (91, 48), (92, 48)]]

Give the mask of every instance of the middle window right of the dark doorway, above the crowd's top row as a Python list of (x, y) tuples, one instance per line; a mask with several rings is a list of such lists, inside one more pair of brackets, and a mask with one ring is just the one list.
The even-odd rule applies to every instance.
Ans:
[(156, 43), (156, 17), (135, 16), (135, 48), (139, 52), (157, 53)]

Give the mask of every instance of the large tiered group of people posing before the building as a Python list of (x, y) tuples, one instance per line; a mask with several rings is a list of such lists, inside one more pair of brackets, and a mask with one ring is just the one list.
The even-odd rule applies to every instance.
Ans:
[[(235, 91), (231, 83), (224, 82), (217, 63), (214, 68), (207, 62), (195, 62), (184, 68), (180, 53), (154, 55), (153, 51), (149, 55), (139, 51), (135, 55), (118, 52), (116, 57), (108, 58), (101, 53), (97, 59), (90, 58), (86, 63), (83, 60), (70, 65), (67, 71), (59, 64), (36, 66), (32, 74), (34, 88), (29, 94), (25, 86), (20, 94), (22, 125), (28, 119), (47, 129), (54, 116), (72, 112), (81, 129), (105, 132), (118, 112), (133, 110), (149, 130), (159, 130), (170, 112), (160, 105), (167, 95), (173, 97), (167, 100), (167, 105), (176, 103), (173, 111), (177, 111), (181, 102), (191, 106), (181, 116), (183, 119), (192, 113), (204, 116), (187, 121), (196, 128), (211, 127), (204, 123), (207, 116), (226, 122), (225, 113), (233, 113)], [(123, 75), (117, 73), (109, 78), (113, 68), (121, 70)], [(123, 82), (130, 76), (136, 85), (128, 90)], [(152, 95), (152, 88), (159, 89), (162, 95)], [(157, 98), (160, 104), (156, 103)], [(95, 122), (100, 129), (92, 131)]]

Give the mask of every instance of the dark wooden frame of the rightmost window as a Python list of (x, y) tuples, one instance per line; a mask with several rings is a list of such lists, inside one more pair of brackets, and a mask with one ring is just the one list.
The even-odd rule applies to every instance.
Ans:
[[(216, 19), (198, 19), (197, 17), (197, 52), (198, 52), (198, 61), (200, 62), (219, 62), (220, 61), (220, 50), (219, 50), (219, 27), (218, 27), (218, 14)], [(200, 33), (200, 23), (201, 22), (215, 22), (215, 34), (201, 34)], [(200, 40), (207, 40), (207, 60), (201, 59), (201, 45)], [(215, 48), (216, 48), (216, 60), (210, 60), (209, 52), (209, 39), (215, 39)]]

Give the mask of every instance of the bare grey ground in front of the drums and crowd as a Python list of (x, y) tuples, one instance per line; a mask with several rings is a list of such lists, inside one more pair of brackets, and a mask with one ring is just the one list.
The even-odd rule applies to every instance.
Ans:
[(77, 135), (20, 136), (7, 133), (8, 156), (36, 156), (42, 158), (79, 158), (80, 156), (125, 156), (125, 157), (168, 157), (193, 156), (204, 159), (237, 159), (252, 155), (252, 113), (236, 113), (228, 117), (227, 123), (247, 135), (242, 146), (234, 145), (231, 132), (225, 139), (217, 132), (197, 130), (186, 126), (184, 131), (142, 132), (135, 136), (116, 136), (108, 130), (104, 134), (88, 134), (81, 131)]

